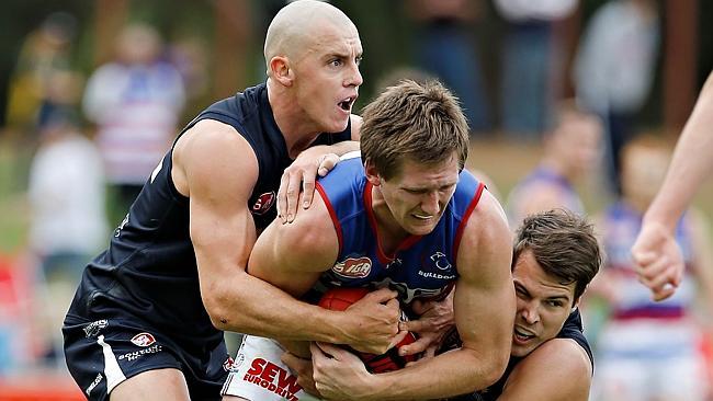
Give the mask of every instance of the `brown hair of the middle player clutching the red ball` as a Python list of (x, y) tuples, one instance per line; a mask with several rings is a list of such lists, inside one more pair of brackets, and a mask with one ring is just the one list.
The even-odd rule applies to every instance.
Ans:
[(456, 153), (468, 157), (468, 125), (457, 99), (440, 82), (404, 80), (389, 87), (363, 111), (361, 152), (388, 180), (405, 159), (437, 164)]

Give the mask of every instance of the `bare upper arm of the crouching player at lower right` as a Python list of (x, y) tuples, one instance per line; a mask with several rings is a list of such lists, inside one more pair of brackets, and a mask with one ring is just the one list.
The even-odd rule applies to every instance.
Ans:
[(591, 363), (573, 340), (553, 339), (522, 359), (498, 401), (587, 401)]

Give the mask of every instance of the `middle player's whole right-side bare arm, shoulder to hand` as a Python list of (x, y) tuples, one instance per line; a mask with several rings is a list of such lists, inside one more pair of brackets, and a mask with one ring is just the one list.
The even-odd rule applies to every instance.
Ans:
[(460, 278), (453, 302), (463, 347), (400, 370), (369, 375), (363, 365), (360, 370), (344, 370), (340, 358), (350, 356), (320, 344), (335, 358), (314, 359), (317, 389), (335, 399), (430, 400), (494, 383), (505, 371), (512, 341), (511, 249), (505, 215), (497, 200), (484, 193), (457, 255)]

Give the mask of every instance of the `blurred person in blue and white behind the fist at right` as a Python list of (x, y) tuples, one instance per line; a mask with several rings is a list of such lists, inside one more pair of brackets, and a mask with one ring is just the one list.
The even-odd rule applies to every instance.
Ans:
[[(697, 287), (713, 305), (713, 255), (706, 218), (687, 211), (676, 229), (686, 273), (675, 295), (650, 299), (638, 283), (631, 248), (642, 216), (666, 175), (670, 147), (637, 138), (622, 149), (622, 197), (599, 219), (607, 261), (589, 295), (609, 302), (610, 320), (599, 334), (595, 393), (598, 400), (704, 400), (709, 382), (693, 309)], [(709, 318), (710, 319), (710, 318)]]

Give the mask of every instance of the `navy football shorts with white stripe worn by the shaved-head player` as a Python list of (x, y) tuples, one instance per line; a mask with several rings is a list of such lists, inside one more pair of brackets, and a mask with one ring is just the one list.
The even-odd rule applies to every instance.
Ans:
[(124, 319), (83, 321), (68, 316), (61, 331), (69, 373), (90, 400), (109, 400), (127, 378), (162, 368), (183, 373), (191, 400), (219, 400), (231, 365), (225, 342), (201, 357), (162, 333)]

